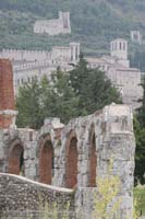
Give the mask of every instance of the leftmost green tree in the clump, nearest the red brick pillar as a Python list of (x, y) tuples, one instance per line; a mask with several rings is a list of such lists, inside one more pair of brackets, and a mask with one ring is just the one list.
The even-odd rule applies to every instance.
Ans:
[(20, 88), (16, 99), (19, 127), (38, 128), (43, 124), (40, 87), (36, 80)]

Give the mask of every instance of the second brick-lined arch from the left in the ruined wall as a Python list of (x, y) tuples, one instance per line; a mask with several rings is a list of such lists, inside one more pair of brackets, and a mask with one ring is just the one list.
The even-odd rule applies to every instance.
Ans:
[(49, 135), (43, 138), (39, 151), (39, 181), (45, 184), (52, 183), (53, 174), (53, 146)]

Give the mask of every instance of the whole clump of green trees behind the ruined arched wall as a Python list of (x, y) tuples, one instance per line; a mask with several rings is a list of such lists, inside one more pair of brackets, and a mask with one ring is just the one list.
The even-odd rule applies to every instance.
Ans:
[(82, 58), (73, 71), (53, 72), (51, 82), (45, 77), (40, 82), (34, 80), (20, 89), (17, 125), (39, 128), (46, 117), (60, 117), (67, 123), (119, 101), (119, 93), (105, 73), (88, 69)]

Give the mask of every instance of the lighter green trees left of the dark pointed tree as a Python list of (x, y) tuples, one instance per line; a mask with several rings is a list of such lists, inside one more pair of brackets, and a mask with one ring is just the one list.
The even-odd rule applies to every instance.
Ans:
[(69, 84), (69, 76), (58, 69), (50, 82), (44, 77), (20, 89), (16, 99), (19, 127), (38, 129), (47, 117), (60, 117), (63, 123), (77, 116), (78, 97)]

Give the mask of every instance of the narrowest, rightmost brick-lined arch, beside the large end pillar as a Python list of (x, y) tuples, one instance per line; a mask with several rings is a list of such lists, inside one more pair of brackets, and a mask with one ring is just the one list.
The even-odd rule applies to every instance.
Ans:
[(96, 154), (96, 140), (95, 134), (90, 137), (90, 155), (89, 155), (89, 186), (96, 187), (96, 168), (97, 168), (97, 154)]

